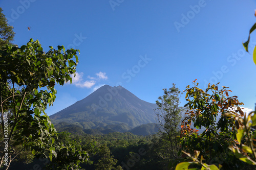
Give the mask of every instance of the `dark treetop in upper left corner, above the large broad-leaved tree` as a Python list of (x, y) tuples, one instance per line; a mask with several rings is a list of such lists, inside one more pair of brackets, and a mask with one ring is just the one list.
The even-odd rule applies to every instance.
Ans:
[(7, 23), (7, 19), (0, 8), (0, 46), (10, 43), (14, 40), (13, 27)]

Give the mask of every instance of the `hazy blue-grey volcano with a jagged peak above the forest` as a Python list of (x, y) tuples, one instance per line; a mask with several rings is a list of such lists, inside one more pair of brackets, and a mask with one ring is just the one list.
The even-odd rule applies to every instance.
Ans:
[(122, 86), (104, 85), (50, 118), (54, 125), (65, 122), (81, 129), (109, 126), (115, 128), (114, 131), (128, 131), (143, 124), (156, 123), (156, 108), (156, 104), (140, 100)]

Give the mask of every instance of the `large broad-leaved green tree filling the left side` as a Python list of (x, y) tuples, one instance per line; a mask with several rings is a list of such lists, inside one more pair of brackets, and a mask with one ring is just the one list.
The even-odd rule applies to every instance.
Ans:
[[(78, 50), (50, 46), (44, 52), (38, 40), (21, 47), (0, 49), (1, 166), (6, 169), (24, 151), (56, 157), (56, 130), (45, 112), (56, 96), (55, 84), (72, 82)], [(73, 59), (75, 58), (75, 61)], [(44, 113), (44, 115), (41, 115)]]

